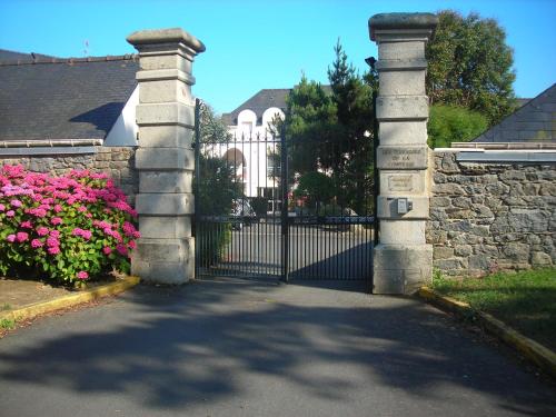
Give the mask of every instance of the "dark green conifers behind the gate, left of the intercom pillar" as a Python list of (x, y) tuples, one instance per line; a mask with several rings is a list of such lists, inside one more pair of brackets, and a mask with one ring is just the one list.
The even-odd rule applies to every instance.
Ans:
[(365, 212), (373, 200), (373, 88), (377, 76), (360, 77), (339, 41), (335, 54), (328, 68), (331, 93), (302, 76), (287, 99), (289, 168), (300, 178), (327, 177), (339, 205)]

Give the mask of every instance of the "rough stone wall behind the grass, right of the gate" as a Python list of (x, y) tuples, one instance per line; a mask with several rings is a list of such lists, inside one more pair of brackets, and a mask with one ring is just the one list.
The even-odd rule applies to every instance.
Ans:
[[(538, 153), (537, 153), (538, 155)], [(556, 265), (556, 161), (434, 159), (427, 242), (449, 276)]]

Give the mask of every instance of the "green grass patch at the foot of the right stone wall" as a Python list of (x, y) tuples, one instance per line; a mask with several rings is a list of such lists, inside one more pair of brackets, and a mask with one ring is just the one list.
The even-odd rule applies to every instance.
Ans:
[(460, 280), (435, 277), (434, 289), (489, 312), (556, 350), (556, 269), (498, 272)]

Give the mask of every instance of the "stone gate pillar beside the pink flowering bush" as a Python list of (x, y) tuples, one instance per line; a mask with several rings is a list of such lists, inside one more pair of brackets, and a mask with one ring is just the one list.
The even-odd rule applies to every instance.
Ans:
[(142, 30), (127, 40), (139, 51), (140, 64), (136, 209), (141, 238), (131, 272), (147, 281), (181, 284), (195, 275), (191, 67), (205, 46), (179, 28)]

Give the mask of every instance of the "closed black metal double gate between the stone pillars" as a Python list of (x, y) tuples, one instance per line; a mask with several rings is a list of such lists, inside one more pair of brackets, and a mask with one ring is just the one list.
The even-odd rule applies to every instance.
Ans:
[[(373, 272), (371, 202), (356, 214), (304, 199), (288, 172), (284, 135), (203, 135), (196, 107), (196, 272), (285, 281), (360, 280)], [(363, 192), (363, 191), (361, 191)], [(373, 196), (369, 195), (369, 201)]]

